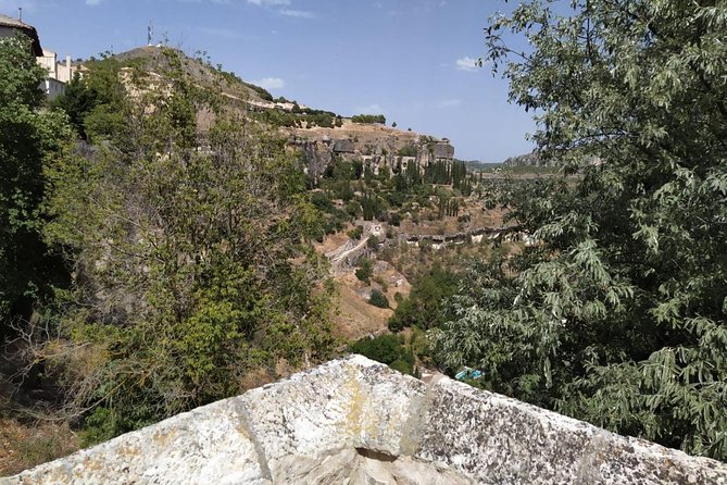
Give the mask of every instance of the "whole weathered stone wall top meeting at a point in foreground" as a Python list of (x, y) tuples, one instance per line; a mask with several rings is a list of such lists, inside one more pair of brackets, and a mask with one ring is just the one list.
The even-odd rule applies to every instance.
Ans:
[(727, 484), (727, 465), (353, 356), (0, 484)]

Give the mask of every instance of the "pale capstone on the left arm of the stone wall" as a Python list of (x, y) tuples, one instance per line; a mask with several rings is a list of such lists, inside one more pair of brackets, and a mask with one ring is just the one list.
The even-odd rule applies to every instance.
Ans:
[(270, 483), (235, 401), (176, 415), (0, 484)]

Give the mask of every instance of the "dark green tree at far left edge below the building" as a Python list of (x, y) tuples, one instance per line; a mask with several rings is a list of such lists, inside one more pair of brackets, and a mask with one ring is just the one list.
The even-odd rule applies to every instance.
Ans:
[(40, 110), (43, 74), (29, 42), (0, 41), (0, 335), (11, 320), (29, 318), (63, 274), (47, 257), (39, 232), (43, 164), (71, 130), (64, 116)]

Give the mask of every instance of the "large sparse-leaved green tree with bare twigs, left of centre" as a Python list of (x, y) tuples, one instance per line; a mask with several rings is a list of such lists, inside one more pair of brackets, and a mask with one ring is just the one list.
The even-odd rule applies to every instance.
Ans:
[(91, 63), (58, 103), (83, 107), (68, 111), (93, 145), (46, 167), (43, 234), (73, 285), (36, 358), (91, 442), (334, 348), (326, 266), (308, 244), (319, 217), (297, 161), (179, 55), (164, 50), (155, 75)]

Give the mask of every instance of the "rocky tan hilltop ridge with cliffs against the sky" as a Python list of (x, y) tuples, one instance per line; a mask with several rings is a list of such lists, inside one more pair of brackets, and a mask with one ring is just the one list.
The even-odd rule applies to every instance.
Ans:
[[(140, 47), (115, 54), (122, 66), (139, 66), (151, 73), (170, 66), (167, 48)], [(347, 161), (362, 160), (375, 174), (397, 164), (405, 169), (416, 163), (422, 170), (437, 161), (451, 163), (454, 147), (447, 138), (386, 126), (383, 116), (343, 116), (323, 109), (313, 109), (298, 101), (274, 98), (260, 86), (245, 82), (238, 75), (213, 66), (209, 61), (192, 59), (180, 51), (181, 69), (195, 82), (214, 86), (229, 100), (228, 107), (246, 116), (272, 125), (288, 140), (289, 147), (301, 150), (308, 162), (308, 173), (318, 178), (336, 157)], [(365, 122), (360, 122), (364, 120)]]

